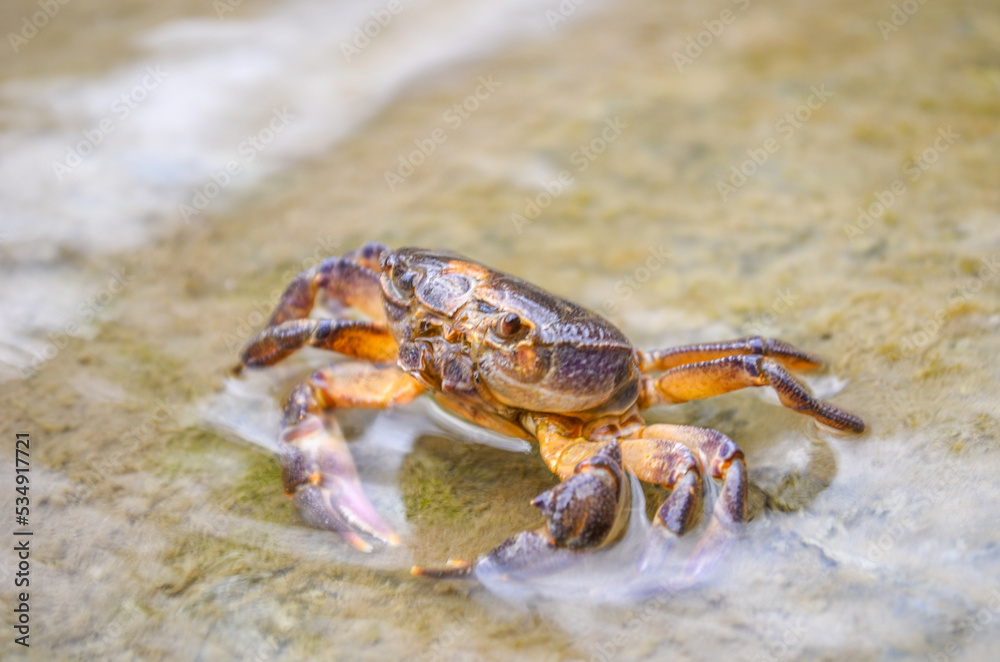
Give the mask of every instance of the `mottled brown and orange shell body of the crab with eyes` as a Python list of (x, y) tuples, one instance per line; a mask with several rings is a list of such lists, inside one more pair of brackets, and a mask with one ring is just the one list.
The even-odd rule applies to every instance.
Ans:
[(467, 406), (513, 420), (522, 411), (621, 414), (636, 402), (632, 344), (571, 301), (452, 253), (418, 248), (382, 256), (381, 286), (400, 367)]

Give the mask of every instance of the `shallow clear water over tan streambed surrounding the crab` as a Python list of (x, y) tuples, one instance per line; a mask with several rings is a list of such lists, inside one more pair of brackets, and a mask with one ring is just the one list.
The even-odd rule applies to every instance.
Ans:
[[(32, 647), (7, 627), (4, 655), (993, 659), (996, 7), (927, 3), (892, 30), (891, 4), (859, 2), (584, 3), (551, 26), (557, 4), (414, 2), (346, 62), (379, 6), (69, 3), (0, 65), (0, 428), (32, 435), (35, 531)], [(110, 103), (157, 63), (171, 76), (119, 122)], [(285, 105), (287, 131), (185, 219)], [(686, 590), (613, 600), (627, 544), (572, 578), (413, 578), (537, 525), (537, 452), (425, 404), (344, 416), (403, 536), (362, 555), (302, 522), (270, 453), (278, 401), (323, 357), (228, 374), (291, 274), (370, 239), (468, 254), (641, 346), (785, 338), (829, 359), (811, 385), (869, 432), (757, 392), (649, 412), (737, 440), (759, 488)], [(13, 484), (12, 442), (0, 458)]]

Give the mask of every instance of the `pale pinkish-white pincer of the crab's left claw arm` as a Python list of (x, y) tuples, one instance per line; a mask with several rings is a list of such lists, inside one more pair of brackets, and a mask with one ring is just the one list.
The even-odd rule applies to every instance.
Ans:
[(285, 494), (306, 519), (336, 532), (360, 551), (372, 549), (360, 533), (399, 544), (399, 536), (365, 496), (350, 451), (333, 426), (335, 434), (310, 414), (282, 432), (278, 447)]

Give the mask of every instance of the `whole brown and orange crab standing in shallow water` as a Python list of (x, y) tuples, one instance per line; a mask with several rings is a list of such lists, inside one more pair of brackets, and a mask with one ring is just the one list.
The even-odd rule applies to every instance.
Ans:
[[(311, 317), (320, 295), (334, 310), (354, 308), (368, 319)], [(708, 557), (739, 534), (748, 520), (743, 451), (716, 430), (647, 425), (640, 411), (648, 407), (770, 387), (786, 407), (819, 423), (865, 429), (792, 376), (822, 361), (786, 342), (748, 337), (636, 349), (596, 313), (446, 251), (372, 242), (306, 269), (243, 349), (239, 368), (269, 366), (305, 346), (356, 361), (316, 371), (285, 401), (284, 491), (307, 519), (363, 551), (373, 540), (400, 540), (362, 490), (331, 415), (339, 408), (395, 407), (428, 392), (460, 418), (537, 441), (560, 480), (532, 502), (545, 523), (477, 561), (508, 568), (543, 566), (554, 550), (613, 543), (628, 517), (629, 472), (669, 490), (649, 527), (658, 549), (702, 517), (707, 480), (721, 486), (692, 557)], [(414, 573), (447, 577), (472, 568), (453, 561)]]

